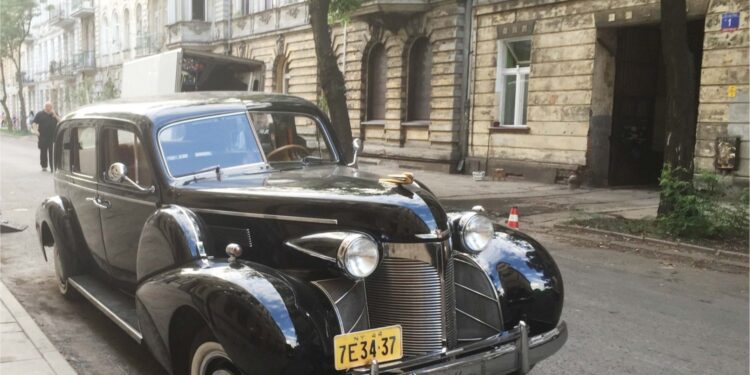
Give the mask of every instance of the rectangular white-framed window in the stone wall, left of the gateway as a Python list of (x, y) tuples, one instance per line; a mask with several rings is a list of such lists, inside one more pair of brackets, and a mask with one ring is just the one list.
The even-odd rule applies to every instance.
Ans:
[(531, 37), (498, 42), (497, 83), (498, 122), (501, 126), (526, 125), (529, 94)]

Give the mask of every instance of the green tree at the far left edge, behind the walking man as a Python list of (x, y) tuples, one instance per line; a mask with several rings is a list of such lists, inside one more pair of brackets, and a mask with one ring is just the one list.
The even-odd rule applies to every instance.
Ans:
[[(31, 19), (36, 14), (34, 0), (2, 0), (0, 3), (0, 59), (7, 58), (15, 67), (16, 83), (18, 86), (18, 101), (21, 113), (18, 118), (22, 131), (26, 129), (26, 101), (23, 96), (23, 72), (21, 71), (21, 47), (31, 31)], [(2, 67), (0, 67), (2, 68)], [(5, 95), (6, 80), (3, 73), (3, 94)], [(5, 103), (3, 107), (6, 108)]]

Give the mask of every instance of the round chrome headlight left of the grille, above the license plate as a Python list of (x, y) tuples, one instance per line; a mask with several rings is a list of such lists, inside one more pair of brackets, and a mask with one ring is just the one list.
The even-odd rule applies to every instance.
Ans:
[(359, 233), (346, 236), (338, 251), (339, 267), (355, 279), (363, 279), (375, 272), (379, 259), (377, 242)]

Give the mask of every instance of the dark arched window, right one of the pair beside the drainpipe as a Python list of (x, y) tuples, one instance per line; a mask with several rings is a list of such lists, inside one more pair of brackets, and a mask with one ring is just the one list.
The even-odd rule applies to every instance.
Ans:
[(430, 119), (432, 96), (432, 48), (429, 39), (421, 37), (414, 41), (409, 50), (408, 64), (406, 120), (427, 121)]

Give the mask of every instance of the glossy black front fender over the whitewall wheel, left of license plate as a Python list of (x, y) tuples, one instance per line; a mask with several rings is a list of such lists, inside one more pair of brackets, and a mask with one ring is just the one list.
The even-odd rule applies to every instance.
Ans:
[(274, 269), (204, 259), (148, 279), (136, 298), (144, 340), (157, 352), (170, 352), (170, 322), (188, 306), (245, 373), (334, 371), (335, 316), (309, 284)]

